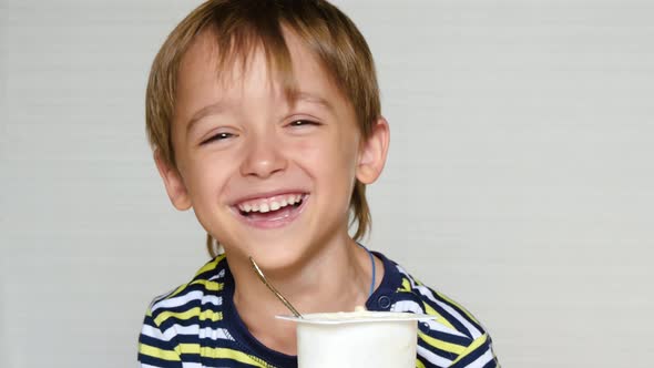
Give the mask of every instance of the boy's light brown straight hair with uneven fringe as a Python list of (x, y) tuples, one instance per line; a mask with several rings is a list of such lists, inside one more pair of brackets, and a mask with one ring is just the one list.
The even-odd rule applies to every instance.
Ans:
[[(188, 14), (159, 51), (147, 83), (145, 123), (150, 144), (161, 159), (176, 170), (172, 143), (177, 74), (182, 58), (202, 32), (215, 38), (217, 72), (263, 50), (268, 69), (283, 82), (293, 99), (295, 80), (283, 29), (294, 32), (319, 60), (340, 93), (354, 106), (364, 142), (380, 116), (379, 88), (372, 55), (351, 20), (324, 0), (210, 0)], [(224, 52), (227, 50), (228, 52)], [(366, 185), (356, 182), (350, 198), (357, 224), (355, 239), (370, 229)], [(212, 256), (216, 246), (207, 235)]]

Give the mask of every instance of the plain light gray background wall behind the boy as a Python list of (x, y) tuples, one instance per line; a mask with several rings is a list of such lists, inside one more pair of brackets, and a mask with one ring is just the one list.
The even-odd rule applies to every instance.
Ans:
[[(0, 0), (0, 367), (131, 367), (206, 260), (145, 141), (152, 59), (198, 1)], [(374, 234), (505, 367), (651, 367), (651, 1), (338, 1), (391, 124)]]

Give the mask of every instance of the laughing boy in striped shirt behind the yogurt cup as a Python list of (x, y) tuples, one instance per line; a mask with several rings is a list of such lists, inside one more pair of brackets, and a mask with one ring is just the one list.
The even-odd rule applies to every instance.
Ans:
[(497, 366), (470, 314), (356, 243), (389, 127), (366, 41), (338, 9), (202, 4), (153, 63), (146, 124), (171, 202), (193, 208), (224, 253), (153, 301), (143, 367), (297, 367), (295, 325), (275, 319), (288, 310), (249, 256), (304, 314), (365, 305), (438, 316), (420, 324), (418, 367)]

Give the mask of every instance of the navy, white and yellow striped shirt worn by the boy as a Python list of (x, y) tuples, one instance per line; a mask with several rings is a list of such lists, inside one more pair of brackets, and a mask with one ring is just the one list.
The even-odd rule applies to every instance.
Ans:
[[(369, 310), (428, 314), (418, 324), (417, 368), (499, 367), (490, 336), (460, 305), (411, 277), (380, 253), (384, 278)], [(249, 334), (234, 307), (234, 279), (219, 255), (195, 277), (154, 299), (139, 338), (139, 360), (150, 367), (297, 367), (297, 357), (268, 349)]]

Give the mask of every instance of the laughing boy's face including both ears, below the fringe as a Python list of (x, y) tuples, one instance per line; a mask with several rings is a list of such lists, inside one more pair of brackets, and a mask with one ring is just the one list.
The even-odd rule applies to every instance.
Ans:
[(231, 257), (252, 255), (264, 267), (290, 266), (347, 239), (355, 177), (371, 183), (384, 166), (386, 121), (361, 142), (352, 106), (290, 33), (295, 103), (260, 51), (218, 79), (213, 42), (200, 35), (182, 61), (172, 129), (177, 171), (156, 160), (175, 207), (193, 207)]

